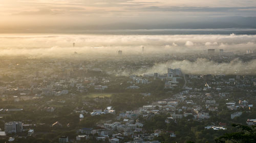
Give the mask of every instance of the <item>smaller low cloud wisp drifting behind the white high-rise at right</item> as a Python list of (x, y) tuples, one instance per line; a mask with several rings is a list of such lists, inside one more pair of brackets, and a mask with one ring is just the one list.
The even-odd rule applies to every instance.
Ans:
[(190, 62), (187, 60), (183, 61), (168, 61), (166, 63), (157, 63), (152, 68), (144, 71), (130, 71), (124, 72), (119, 71), (118, 75), (143, 75), (145, 73), (153, 74), (155, 72), (159, 74), (167, 73), (167, 68), (180, 68), (185, 74), (241, 74), (250, 75), (256, 74), (256, 60), (250, 62), (242, 62), (238, 59), (231, 61), (230, 63), (216, 63), (209, 61), (208, 59), (197, 59), (195, 62)]

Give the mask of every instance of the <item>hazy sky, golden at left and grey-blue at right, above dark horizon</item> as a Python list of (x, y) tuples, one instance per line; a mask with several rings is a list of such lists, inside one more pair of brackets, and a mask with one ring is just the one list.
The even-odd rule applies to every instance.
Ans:
[(2, 33), (255, 28), (255, 0), (0, 0)]

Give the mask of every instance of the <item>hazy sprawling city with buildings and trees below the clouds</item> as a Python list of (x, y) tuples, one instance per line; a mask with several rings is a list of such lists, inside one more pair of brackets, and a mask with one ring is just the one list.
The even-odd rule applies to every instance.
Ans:
[(1, 56), (0, 142), (255, 141), (255, 71), (195, 74), (166, 64), (160, 73), (153, 68), (172, 60), (248, 63), (256, 60), (252, 50), (180, 55), (144, 50)]

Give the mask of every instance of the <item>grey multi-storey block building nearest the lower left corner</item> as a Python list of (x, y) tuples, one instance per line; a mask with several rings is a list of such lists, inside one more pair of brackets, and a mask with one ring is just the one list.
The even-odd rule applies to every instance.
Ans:
[(5, 123), (5, 132), (6, 133), (20, 133), (23, 131), (22, 122), (8, 122)]

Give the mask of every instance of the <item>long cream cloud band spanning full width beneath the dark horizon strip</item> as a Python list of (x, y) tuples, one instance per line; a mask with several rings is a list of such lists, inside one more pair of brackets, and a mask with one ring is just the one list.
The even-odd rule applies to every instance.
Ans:
[[(255, 50), (256, 35), (1, 35), (0, 55), (61, 56), (78, 53), (136, 54), (202, 53), (207, 49), (224, 52)], [(75, 43), (75, 47), (73, 47)]]

